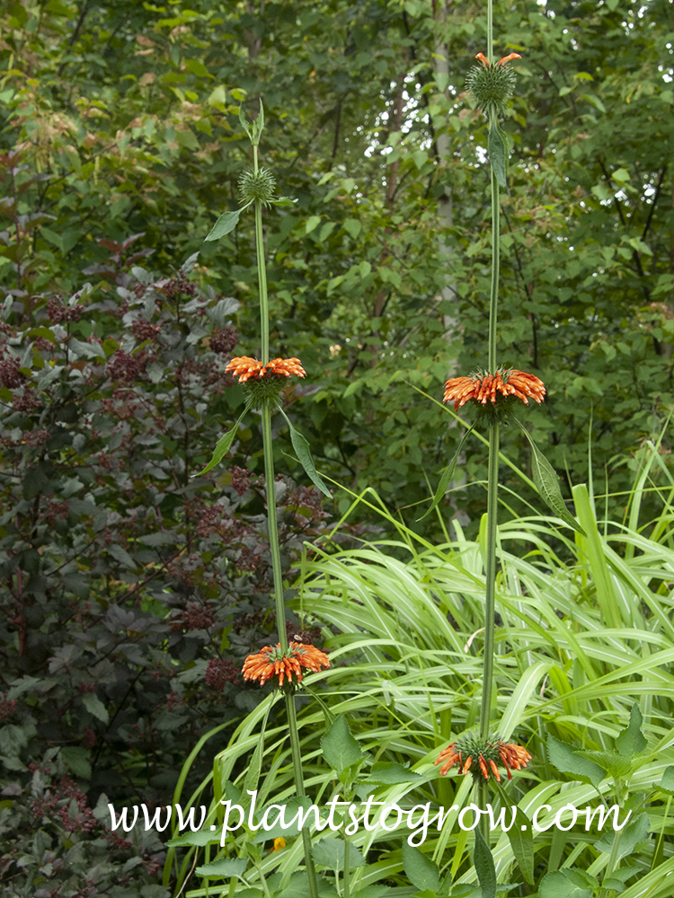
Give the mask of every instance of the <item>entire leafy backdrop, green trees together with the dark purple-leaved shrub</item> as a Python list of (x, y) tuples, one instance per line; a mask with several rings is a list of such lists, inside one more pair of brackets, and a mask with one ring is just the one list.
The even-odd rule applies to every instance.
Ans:
[[(545, 381), (545, 404), (521, 417), (565, 495), (587, 480), (590, 447), (617, 517), (634, 451), (672, 406), (673, 14), (664, 0), (497, 8), (498, 48), (522, 56), (503, 126), (499, 354)], [(348, 490), (376, 489), (430, 539), (452, 515), (476, 533), (475, 439), (443, 520), (415, 518), (460, 435), (442, 383), (486, 357), (486, 126), (465, 93), (485, 27), (482, 4), (420, 0), (4, 4), (0, 832), (12, 894), (47, 888), (40, 877), (93, 888), (83, 842), (100, 891), (120, 857), (134, 864), (118, 890), (155, 887), (160, 845), (115, 856), (95, 829), (72, 840), (80, 792), (91, 807), (102, 792), (170, 800), (200, 734), (257, 700), (230, 682), (274, 630), (253, 413), (228, 466), (191, 477), (238, 416), (226, 359), (258, 351), (252, 219), (202, 244), (251, 164), (240, 103), (254, 115), (262, 97), (262, 162), (297, 200), (265, 213), (271, 348), (302, 359), (288, 413), (336, 481), (322, 505), (280, 430), (288, 590), (303, 541), (330, 532)], [(528, 471), (515, 428), (504, 451)], [(670, 467), (667, 439), (661, 453)], [(504, 516), (536, 505), (502, 476)], [(345, 536), (382, 526), (363, 508)]]

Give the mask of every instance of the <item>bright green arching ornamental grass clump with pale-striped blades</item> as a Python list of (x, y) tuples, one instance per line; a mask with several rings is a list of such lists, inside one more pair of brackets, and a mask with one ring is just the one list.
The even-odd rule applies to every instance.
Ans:
[[(526, 745), (533, 756), (528, 769), (506, 786), (509, 800), (526, 818), (530, 821), (537, 807), (548, 805), (539, 818), (545, 824), (569, 804), (579, 809), (596, 807), (599, 794), (608, 806), (623, 809), (621, 820), (632, 809), (628, 825), (636, 821), (636, 830), (625, 827), (616, 849), (616, 875), (626, 886), (622, 894), (668, 898), (674, 857), (662, 839), (669, 832), (670, 793), (661, 788), (661, 780), (674, 764), (670, 722), (674, 708), (670, 505), (674, 482), (661, 464), (659, 445), (646, 445), (639, 459), (622, 522), (604, 520), (600, 515), (603, 497), (593, 497), (580, 485), (574, 489), (575, 512), (586, 537), (565, 535), (569, 532), (561, 529), (561, 522), (545, 516), (531, 515), (500, 526), (494, 717), (499, 720), (501, 738)], [(666, 477), (664, 488), (661, 472)], [(638, 526), (643, 497), (653, 489), (661, 492), (661, 516)], [(377, 507), (371, 491), (359, 501)], [(397, 541), (333, 554), (319, 551), (304, 560), (293, 604), (300, 614), (310, 613), (322, 622), (331, 661), (329, 670), (310, 678), (311, 691), (329, 705), (329, 719), (314, 701), (306, 703), (297, 718), (306, 788), (318, 805), (343, 788), (327, 768), (320, 742), (330, 720), (338, 715), (348, 718), (353, 737), (368, 757), (366, 767), (389, 762), (409, 766), (421, 777), (414, 782), (380, 784), (378, 798), (404, 808), (426, 802), (432, 808), (461, 808), (471, 801), (471, 778), (450, 773), (440, 779), (433, 763), (439, 749), (473, 726), (480, 713), (482, 537), (467, 540), (456, 526), (456, 538), (442, 546), (428, 544), (398, 523)], [(244, 761), (256, 747), (265, 771), (258, 808), (282, 804), (294, 796), (285, 723), (270, 726), (260, 740), (260, 723), (273, 701), (272, 697), (264, 700), (245, 718), (229, 748), (218, 755), (213, 779), (216, 797), (231, 794), (227, 783), (244, 790), (250, 778)], [(630, 726), (635, 702), (641, 709), (645, 743), (620, 767), (614, 746)], [(565, 755), (571, 760), (566, 766), (559, 761), (560, 755), (554, 755), (561, 769), (549, 755), (555, 740), (563, 751), (578, 752)], [(581, 770), (582, 759), (598, 765), (597, 788), (577, 776), (575, 765)], [(368, 774), (365, 768), (362, 772), (363, 779), (371, 780), (371, 768)], [(500, 799), (491, 792), (490, 800), (498, 806)], [(217, 814), (216, 800), (208, 821), (217, 822)], [(457, 826), (457, 815), (448, 815), (441, 832), (431, 826), (420, 850), (438, 868), (439, 883), (447, 886), (447, 891), (436, 894), (479, 895), (479, 891), (460, 888), (468, 883), (478, 886), (469, 850), (472, 835)], [(571, 819), (567, 809), (563, 825), (570, 825)], [(572, 832), (557, 832), (553, 827), (531, 833), (538, 894), (563, 894), (570, 886), (559, 867), (584, 871), (590, 885), (595, 883), (594, 888), (586, 885), (588, 894), (601, 894), (599, 884), (615, 837), (610, 830), (602, 836), (594, 827), (586, 832), (584, 823), (583, 816)], [(403, 888), (410, 882), (411, 866), (413, 870), (404, 847), (409, 833), (405, 826), (395, 833), (380, 826), (372, 832), (359, 829), (352, 838), (352, 850), (359, 850), (364, 863), (352, 870), (352, 894), (382, 881), (402, 888), (392, 894), (413, 894)], [(241, 853), (247, 840), (245, 833), (237, 833), (221, 857)], [(215, 841), (219, 842), (219, 827)], [(301, 841), (292, 836), (286, 841), (285, 849), (263, 853), (250, 878), (246, 876), (248, 886), (260, 888), (259, 877), (266, 876), (271, 894), (282, 894), (284, 885), (293, 881), (301, 864)], [(516, 850), (506, 832), (492, 832), (491, 850), (498, 882), (522, 885)], [(219, 845), (212, 845), (210, 858), (217, 858), (218, 851)], [(189, 865), (188, 855), (182, 861), (183, 870)], [(199, 870), (206, 868), (201, 865)], [(571, 874), (567, 871), (566, 876)], [(210, 883), (215, 885), (213, 880)], [(231, 894), (243, 890), (243, 882), (237, 883)], [(188, 894), (205, 892), (188, 889)], [(516, 890), (514, 894), (526, 893)]]

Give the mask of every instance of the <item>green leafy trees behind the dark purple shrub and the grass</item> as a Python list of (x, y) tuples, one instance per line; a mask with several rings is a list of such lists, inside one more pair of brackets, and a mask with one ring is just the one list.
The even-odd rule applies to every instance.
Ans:
[[(672, 402), (672, 15), (665, 0), (496, 10), (499, 51), (522, 56), (499, 353), (545, 381), (527, 421), (560, 475), (587, 478), (590, 439), (614, 490)], [(30, 315), (83, 270), (110, 290), (102, 240), (142, 232), (155, 268), (200, 251), (253, 355), (252, 218), (202, 240), (238, 205), (235, 112), (262, 97), (262, 162), (297, 199), (266, 217), (272, 351), (309, 372), (293, 412), (335, 480), (392, 510), (421, 501), (459, 431), (411, 384), (439, 400), (486, 358), (486, 128), (464, 87), (484, 47), (482, 4), (5, 4), (5, 292)], [(514, 430), (505, 451), (527, 465)], [(237, 460), (259, 453), (251, 439)], [(480, 487), (458, 500), (471, 518), (482, 504)]]

